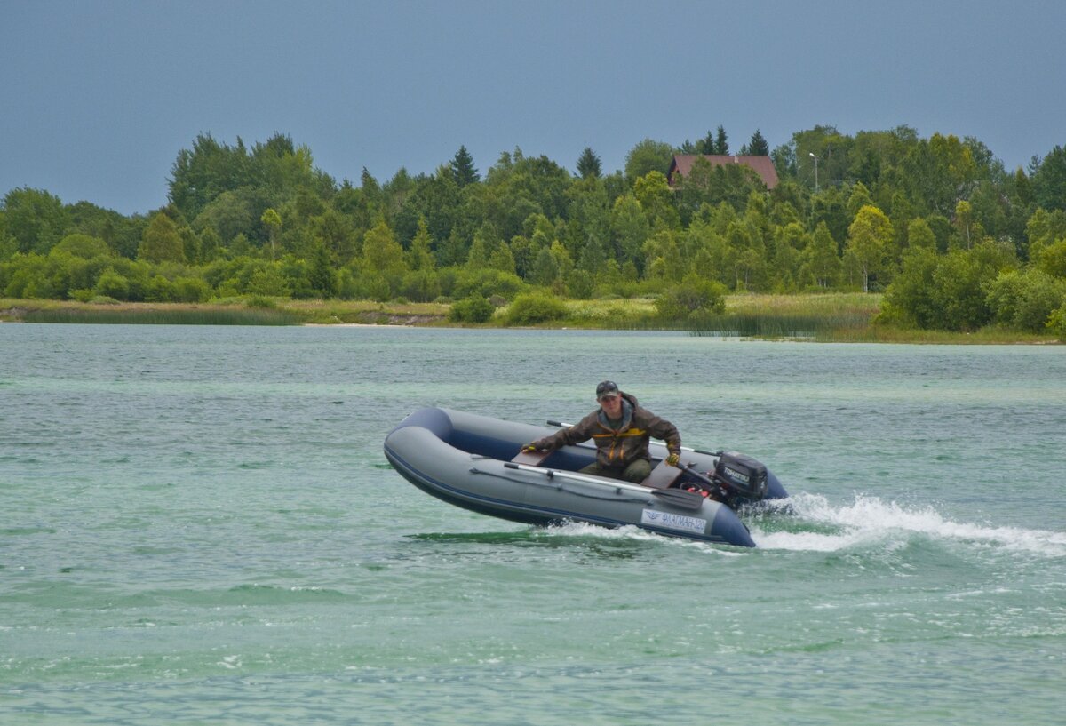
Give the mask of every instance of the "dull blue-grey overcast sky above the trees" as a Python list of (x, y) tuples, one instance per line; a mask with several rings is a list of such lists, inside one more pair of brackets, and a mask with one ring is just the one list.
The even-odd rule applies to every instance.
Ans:
[(356, 184), (461, 145), (613, 172), (720, 125), (734, 152), (907, 125), (1014, 170), (1066, 145), (1064, 29), (1061, 0), (0, 0), (0, 197), (148, 213), (199, 133)]

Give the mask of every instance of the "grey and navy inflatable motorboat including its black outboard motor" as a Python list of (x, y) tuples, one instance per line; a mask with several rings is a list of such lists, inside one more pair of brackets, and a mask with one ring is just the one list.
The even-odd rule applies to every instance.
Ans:
[[(562, 424), (559, 424), (562, 425)], [(788, 497), (777, 478), (737, 452), (682, 449), (669, 466), (652, 441), (651, 475), (640, 484), (579, 473), (591, 442), (550, 453), (521, 447), (558, 429), (447, 408), (421, 408), (385, 438), (385, 455), (407, 481), (449, 504), (532, 525), (583, 521), (755, 547), (737, 510)]]

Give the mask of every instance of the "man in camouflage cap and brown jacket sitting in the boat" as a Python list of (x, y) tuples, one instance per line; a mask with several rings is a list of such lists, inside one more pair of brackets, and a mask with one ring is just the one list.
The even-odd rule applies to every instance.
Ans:
[(522, 447), (522, 451), (553, 451), (589, 438), (596, 442), (596, 462), (581, 471), (586, 474), (643, 482), (651, 473), (648, 438), (666, 442), (666, 463), (677, 466), (681, 457), (681, 436), (677, 427), (642, 408), (636, 399), (618, 390), (611, 381), (596, 387), (600, 407), (572, 426), (562, 429)]

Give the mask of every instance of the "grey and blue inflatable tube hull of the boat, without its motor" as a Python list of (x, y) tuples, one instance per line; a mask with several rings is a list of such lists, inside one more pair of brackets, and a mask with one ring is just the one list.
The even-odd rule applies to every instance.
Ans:
[[(595, 459), (592, 446), (565, 447), (542, 466), (510, 461), (523, 443), (553, 431), (465, 412), (423, 408), (389, 433), (385, 455), (401, 475), (426, 494), (492, 517), (532, 525), (584, 521), (634, 526), (669, 536), (755, 546), (747, 528), (725, 504), (701, 498), (668, 498), (641, 485), (576, 473)], [(653, 458), (666, 455), (665, 448), (656, 443), (651, 453)], [(684, 458), (708, 456), (692, 453)], [(694, 463), (708, 469), (712, 466), (711, 461)], [(776, 478), (772, 494), (784, 494)]]

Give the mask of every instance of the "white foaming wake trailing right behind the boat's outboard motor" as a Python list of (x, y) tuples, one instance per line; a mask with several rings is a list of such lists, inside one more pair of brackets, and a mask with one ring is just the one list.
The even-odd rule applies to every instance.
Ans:
[(909, 507), (867, 495), (856, 495), (851, 504), (833, 505), (825, 497), (807, 494), (793, 497), (789, 505), (805, 529), (770, 531), (770, 521), (764, 519), (752, 529), (757, 546), (830, 552), (878, 543), (902, 544), (912, 535), (922, 535), (1012, 552), (1066, 556), (1066, 533), (956, 522), (928, 505)]

